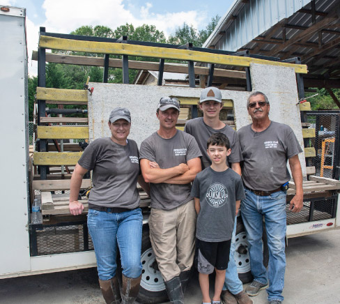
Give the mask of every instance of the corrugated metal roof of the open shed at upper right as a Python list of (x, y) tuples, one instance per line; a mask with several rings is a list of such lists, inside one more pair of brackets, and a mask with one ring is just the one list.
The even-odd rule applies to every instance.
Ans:
[(307, 85), (339, 88), (340, 0), (236, 0), (203, 47), (300, 57)]

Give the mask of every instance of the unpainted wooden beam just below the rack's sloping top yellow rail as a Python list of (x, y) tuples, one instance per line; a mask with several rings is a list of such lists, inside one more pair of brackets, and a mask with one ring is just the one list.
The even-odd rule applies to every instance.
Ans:
[[(38, 60), (38, 52), (33, 51), (32, 60)], [(87, 56), (72, 56), (60, 54), (46, 54), (46, 61), (53, 63), (77, 64), (80, 66), (104, 66), (104, 59), (100, 57), (87, 57)], [(122, 68), (123, 63), (121, 59), (109, 59), (109, 67)], [(129, 68), (132, 70), (160, 70), (160, 64), (149, 61), (134, 61), (129, 60)], [(209, 68), (195, 66), (195, 74), (209, 75)], [(179, 63), (164, 63), (164, 72), (171, 73), (187, 73), (187, 65)], [(214, 71), (214, 76), (231, 77), (245, 79), (245, 72), (238, 70), (224, 70), (217, 68)]]

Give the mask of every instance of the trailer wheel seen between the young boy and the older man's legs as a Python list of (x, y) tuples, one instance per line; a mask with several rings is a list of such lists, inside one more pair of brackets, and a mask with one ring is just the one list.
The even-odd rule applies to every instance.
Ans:
[[(249, 257), (249, 244), (247, 235), (245, 233), (245, 226), (243, 225), (242, 218), (238, 216), (236, 224), (236, 237), (235, 237), (235, 263), (238, 267), (238, 278), (243, 284), (253, 280), (252, 271), (250, 270), (250, 257)], [(268, 266), (268, 244), (267, 234), (265, 233), (265, 226), (263, 223), (263, 265)]]

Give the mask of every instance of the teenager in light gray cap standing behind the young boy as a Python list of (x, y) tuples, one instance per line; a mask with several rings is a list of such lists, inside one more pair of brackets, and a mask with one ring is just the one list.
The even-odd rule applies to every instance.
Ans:
[[(228, 125), (219, 120), (219, 112), (223, 107), (222, 94), (215, 87), (208, 87), (201, 91), (199, 107), (203, 112), (203, 117), (191, 119), (185, 124), (184, 131), (195, 137), (199, 144), (202, 156), (202, 169), (210, 167), (211, 160), (208, 157), (206, 143), (210, 135), (222, 132), (228, 137), (231, 147), (231, 154), (227, 157), (227, 162), (231, 163), (231, 169), (241, 175), (240, 160), (242, 155), (240, 151), (240, 142), (237, 133)], [(224, 282), (224, 291), (221, 298), (225, 304), (252, 304), (253, 301), (243, 291), (242, 282), (238, 278), (238, 269), (235, 264), (235, 232), (236, 222), (231, 239), (231, 248), (229, 254), (228, 268), (226, 269), (226, 280)]]

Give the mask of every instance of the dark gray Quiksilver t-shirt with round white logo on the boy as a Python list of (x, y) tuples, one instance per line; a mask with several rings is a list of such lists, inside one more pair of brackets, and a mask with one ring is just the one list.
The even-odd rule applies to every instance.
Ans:
[(235, 221), (235, 201), (245, 198), (242, 179), (232, 169), (216, 172), (211, 167), (196, 175), (193, 197), (199, 198), (196, 238), (206, 242), (231, 239)]

